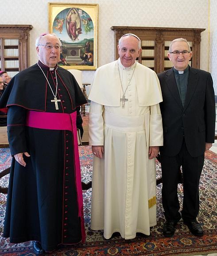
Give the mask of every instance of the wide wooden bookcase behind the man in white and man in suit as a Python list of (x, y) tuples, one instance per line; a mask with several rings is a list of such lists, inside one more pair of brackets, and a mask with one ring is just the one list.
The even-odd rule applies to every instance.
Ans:
[(115, 32), (115, 59), (119, 57), (118, 40), (122, 35), (132, 33), (142, 43), (142, 52), (137, 61), (159, 73), (172, 67), (172, 62), (167, 57), (169, 45), (172, 40), (182, 37), (190, 43), (192, 50), (190, 66), (200, 68), (201, 32), (204, 28), (112, 26), (111, 29)]

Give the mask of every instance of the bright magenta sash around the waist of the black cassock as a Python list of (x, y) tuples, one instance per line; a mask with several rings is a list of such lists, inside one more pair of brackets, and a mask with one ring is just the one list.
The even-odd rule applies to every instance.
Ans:
[(26, 126), (49, 130), (69, 130), (74, 137), (74, 159), (75, 159), (75, 182), (77, 188), (78, 217), (81, 217), (82, 242), (85, 241), (85, 225), (83, 211), (83, 196), (81, 186), (81, 168), (77, 144), (77, 112), (71, 114), (38, 112), (29, 110), (27, 112)]

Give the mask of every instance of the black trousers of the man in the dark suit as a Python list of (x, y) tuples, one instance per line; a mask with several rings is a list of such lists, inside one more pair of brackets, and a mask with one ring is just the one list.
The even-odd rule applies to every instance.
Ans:
[[(182, 148), (178, 155), (161, 155), (162, 168), (162, 202), (164, 215), (167, 221), (194, 221), (199, 212), (199, 180), (204, 164), (204, 154), (192, 157), (183, 140)], [(183, 174), (183, 206), (182, 215), (179, 213), (178, 201), (178, 175), (182, 166)]]

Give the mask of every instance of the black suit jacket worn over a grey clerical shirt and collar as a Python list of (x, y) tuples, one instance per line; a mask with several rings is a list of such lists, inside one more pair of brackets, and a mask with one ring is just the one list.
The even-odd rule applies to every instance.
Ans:
[(158, 74), (163, 102), (160, 109), (163, 119), (164, 155), (175, 156), (185, 138), (192, 157), (205, 152), (205, 142), (213, 143), (215, 136), (215, 96), (209, 72), (189, 67), (185, 105), (179, 97), (173, 68)]

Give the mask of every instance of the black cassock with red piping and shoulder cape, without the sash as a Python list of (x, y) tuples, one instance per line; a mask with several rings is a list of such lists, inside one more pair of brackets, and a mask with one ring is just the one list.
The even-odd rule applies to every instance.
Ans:
[(38, 240), (46, 251), (58, 244), (85, 240), (83, 212), (79, 217), (74, 160), (74, 139), (68, 130), (31, 128), (25, 125), (28, 110), (72, 113), (82, 129), (80, 106), (86, 103), (70, 72), (54, 70), (38, 62), (55, 94), (58, 80), (58, 110), (42, 70), (35, 64), (9, 83), (0, 101), (8, 107), (8, 140), (11, 154), (28, 152), (26, 167), (12, 158), (3, 237), (11, 243)]

